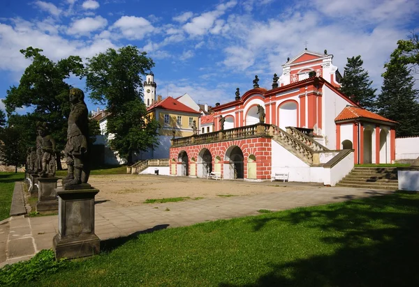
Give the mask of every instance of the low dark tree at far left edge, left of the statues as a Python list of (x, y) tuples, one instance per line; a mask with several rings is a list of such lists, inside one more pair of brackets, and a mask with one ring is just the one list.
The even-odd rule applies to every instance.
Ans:
[(15, 166), (15, 173), (17, 168), (24, 165), (27, 157), (27, 145), (21, 133), (20, 128), (9, 126), (0, 134), (0, 161)]

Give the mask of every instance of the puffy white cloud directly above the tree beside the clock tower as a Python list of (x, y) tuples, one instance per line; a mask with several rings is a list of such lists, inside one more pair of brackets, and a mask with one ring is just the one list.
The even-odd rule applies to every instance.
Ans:
[(141, 40), (147, 33), (154, 31), (152, 24), (143, 17), (122, 16), (112, 25), (119, 30), (125, 38)]

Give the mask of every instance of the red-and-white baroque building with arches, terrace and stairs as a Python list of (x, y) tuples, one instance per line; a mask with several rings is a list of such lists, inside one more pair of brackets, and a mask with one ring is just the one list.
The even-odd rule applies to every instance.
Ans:
[(281, 173), (289, 181), (335, 185), (355, 163), (394, 161), (396, 123), (339, 91), (332, 58), (304, 50), (282, 65), (272, 88), (256, 82), (237, 100), (213, 107), (214, 132), (172, 141), (170, 173), (245, 180)]

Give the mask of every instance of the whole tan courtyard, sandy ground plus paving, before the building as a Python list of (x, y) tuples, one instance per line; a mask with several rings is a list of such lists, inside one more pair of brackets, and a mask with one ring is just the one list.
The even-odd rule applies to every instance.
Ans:
[[(126, 187), (130, 190), (127, 193), (134, 198), (137, 194), (138, 197), (148, 199), (177, 196), (190, 196), (191, 199), (153, 204), (135, 200), (135, 203), (127, 204), (123, 196), (118, 198), (118, 194), (112, 194), (109, 191), (99, 192), (96, 196), (95, 228), (96, 235), (101, 240), (125, 237), (159, 228), (258, 215), (260, 209), (286, 210), (393, 192), (350, 187), (323, 187), (303, 183), (258, 183), (169, 176), (101, 176), (92, 177), (89, 183), (99, 189), (106, 189), (106, 186), (112, 186), (112, 183), (118, 184), (118, 178), (130, 182), (129, 187)], [(162, 183), (159, 180), (164, 182), (167, 192), (160, 186)], [(139, 188), (144, 186), (143, 183), (147, 183), (147, 189)], [(138, 192), (133, 192), (134, 189)], [(185, 193), (186, 189), (193, 193)], [(193, 200), (196, 197), (203, 197), (203, 199)], [(8, 263), (27, 260), (42, 249), (52, 248), (52, 238), (57, 230), (57, 215), (31, 218), (18, 216), (0, 222), (0, 267)]]

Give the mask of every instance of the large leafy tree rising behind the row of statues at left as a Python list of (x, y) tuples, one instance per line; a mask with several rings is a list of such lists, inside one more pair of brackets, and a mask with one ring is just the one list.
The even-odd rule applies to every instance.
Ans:
[[(20, 52), (32, 63), (24, 70), (19, 86), (12, 86), (7, 91), (7, 113), (15, 113), (16, 108), (33, 107), (34, 112), (27, 115), (33, 121), (32, 131), (36, 134), (34, 123), (45, 122), (57, 141), (57, 150), (63, 150), (67, 137), (67, 117), (70, 114), (68, 91), (71, 85), (64, 82), (72, 74), (82, 75), (84, 66), (79, 56), (69, 56), (54, 63), (41, 54), (43, 50), (33, 47), (21, 49)], [(57, 152), (57, 159), (59, 159)], [(61, 165), (57, 160), (58, 169)]]

